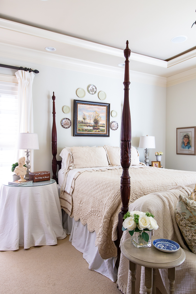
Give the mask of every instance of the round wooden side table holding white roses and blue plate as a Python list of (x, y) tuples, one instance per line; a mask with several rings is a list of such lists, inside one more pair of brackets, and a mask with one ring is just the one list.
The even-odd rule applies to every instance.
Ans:
[[(160, 237), (152, 236), (152, 242)], [(122, 254), (129, 260), (131, 271), (131, 294), (135, 294), (135, 274), (137, 264), (145, 267), (145, 290), (147, 294), (156, 294), (156, 269), (167, 268), (169, 291), (173, 294), (175, 284), (175, 267), (185, 261), (185, 253), (180, 248), (176, 252), (167, 253), (156, 249), (153, 244), (147, 248), (136, 248), (131, 238), (125, 240), (120, 246)]]

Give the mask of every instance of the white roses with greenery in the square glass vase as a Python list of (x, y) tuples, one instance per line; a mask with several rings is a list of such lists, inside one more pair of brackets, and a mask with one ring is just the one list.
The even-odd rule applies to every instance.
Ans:
[(136, 210), (128, 211), (123, 219), (122, 230), (128, 230), (131, 236), (134, 232), (140, 232), (146, 242), (149, 240), (149, 235), (145, 231), (157, 230), (159, 227), (153, 214), (148, 211), (146, 213)]

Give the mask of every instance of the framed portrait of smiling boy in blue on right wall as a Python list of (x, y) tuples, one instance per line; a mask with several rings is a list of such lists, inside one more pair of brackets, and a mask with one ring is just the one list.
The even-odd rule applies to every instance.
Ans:
[(176, 128), (176, 154), (196, 155), (196, 127)]

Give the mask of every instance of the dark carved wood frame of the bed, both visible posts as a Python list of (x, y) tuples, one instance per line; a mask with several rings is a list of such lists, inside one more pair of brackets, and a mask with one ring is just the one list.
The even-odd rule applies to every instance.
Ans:
[[(125, 78), (124, 78), (124, 104), (123, 104), (123, 113), (122, 113), (122, 122), (121, 122), (121, 159), (120, 163), (123, 168), (123, 173), (121, 176), (120, 182), (120, 194), (122, 200), (121, 212), (118, 216), (118, 239), (116, 245), (118, 248), (118, 264), (120, 260), (120, 238), (122, 237), (122, 225), (123, 225), (123, 216), (128, 211), (128, 203), (130, 199), (130, 176), (129, 176), (129, 167), (131, 163), (131, 117), (130, 117), (130, 107), (129, 107), (129, 57), (131, 50), (128, 47), (128, 40), (126, 42), (126, 49), (124, 50), (125, 56)], [(52, 178), (58, 183), (58, 178), (56, 176), (57, 165), (61, 169), (61, 161), (56, 160), (57, 155), (57, 132), (56, 132), (56, 121), (55, 121), (55, 96), (53, 92), (53, 125), (52, 125)]]

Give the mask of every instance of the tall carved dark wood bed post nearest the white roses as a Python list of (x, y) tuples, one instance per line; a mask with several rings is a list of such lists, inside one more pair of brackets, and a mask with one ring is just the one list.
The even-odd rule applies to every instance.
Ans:
[(125, 80), (123, 82), (124, 88), (124, 104), (123, 104), (123, 113), (122, 113), (122, 122), (121, 122), (121, 154), (120, 154), (120, 163), (123, 168), (123, 173), (121, 176), (120, 182), (120, 195), (122, 200), (121, 212), (118, 214), (118, 239), (116, 242), (118, 248), (118, 257), (116, 266), (119, 266), (120, 262), (120, 239), (123, 235), (122, 226), (123, 226), (123, 216), (128, 211), (128, 204), (130, 199), (130, 176), (129, 176), (129, 167), (131, 163), (131, 116), (130, 116), (130, 107), (129, 107), (129, 57), (131, 50), (128, 47), (129, 42), (127, 41), (126, 49), (124, 50), (125, 55)]

